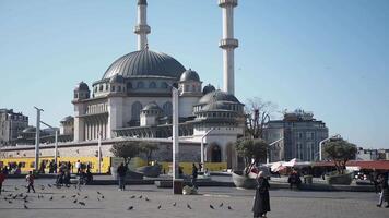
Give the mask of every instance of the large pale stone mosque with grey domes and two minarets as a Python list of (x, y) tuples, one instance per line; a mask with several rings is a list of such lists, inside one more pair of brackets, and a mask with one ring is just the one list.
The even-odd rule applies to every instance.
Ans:
[[(234, 8), (237, 0), (219, 0), (223, 11), (223, 90), (201, 81), (192, 69), (175, 58), (149, 49), (146, 0), (138, 0), (138, 50), (113, 62), (93, 84), (81, 82), (73, 90), (74, 114), (61, 121), (61, 132), (73, 133), (73, 142), (59, 144), (61, 156), (94, 156), (97, 141), (103, 156), (111, 156), (117, 141), (153, 141), (155, 158), (172, 160), (172, 90), (178, 89), (180, 158), (200, 160), (205, 143), (205, 161), (237, 166), (233, 143), (244, 134), (244, 105), (234, 96)], [(60, 135), (61, 136), (61, 135)], [(8, 155), (34, 154), (33, 147), (10, 148)], [(40, 145), (40, 155), (52, 155), (52, 144)]]

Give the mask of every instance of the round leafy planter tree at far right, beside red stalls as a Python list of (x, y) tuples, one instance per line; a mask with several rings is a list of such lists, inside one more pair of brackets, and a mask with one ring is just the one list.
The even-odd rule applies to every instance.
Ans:
[(344, 140), (325, 144), (325, 153), (334, 162), (339, 174), (344, 174), (345, 164), (351, 159), (355, 159), (356, 152), (356, 145)]

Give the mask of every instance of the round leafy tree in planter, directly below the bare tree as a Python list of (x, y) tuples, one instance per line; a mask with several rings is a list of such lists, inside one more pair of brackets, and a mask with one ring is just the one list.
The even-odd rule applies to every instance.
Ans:
[(246, 174), (248, 174), (248, 167), (254, 159), (257, 165), (260, 161), (266, 160), (268, 154), (268, 143), (260, 138), (240, 138), (236, 142), (236, 152), (240, 157), (245, 159)]

